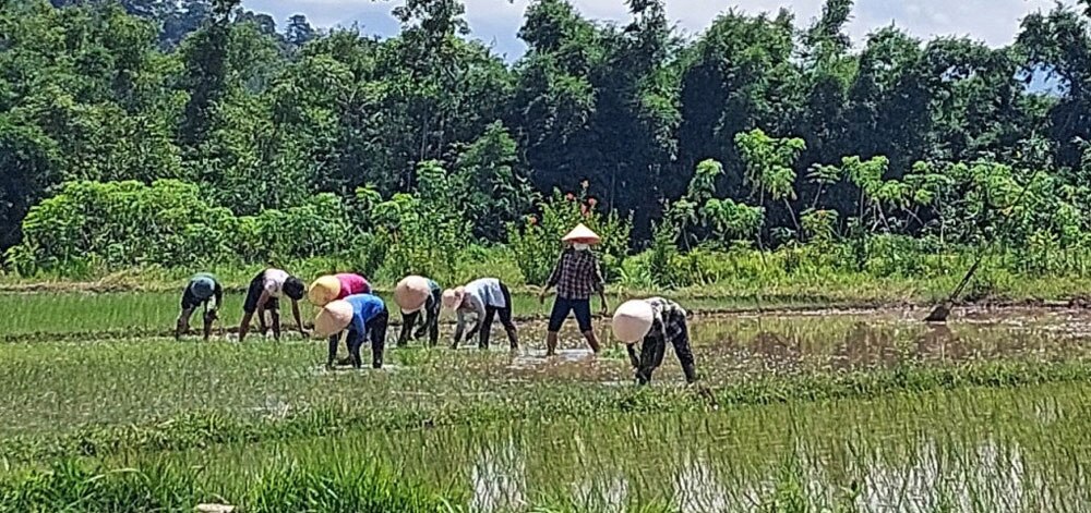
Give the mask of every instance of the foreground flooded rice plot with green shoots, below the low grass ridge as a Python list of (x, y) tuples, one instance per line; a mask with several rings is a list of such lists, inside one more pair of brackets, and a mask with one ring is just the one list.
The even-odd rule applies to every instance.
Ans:
[[(1084, 511), (1088, 386), (411, 431), (123, 459), (226, 490), (271, 467), (382, 461), (473, 511), (753, 511), (788, 494), (860, 511)], [(215, 485), (213, 486), (215, 488)], [(842, 510), (843, 511), (843, 510)]]

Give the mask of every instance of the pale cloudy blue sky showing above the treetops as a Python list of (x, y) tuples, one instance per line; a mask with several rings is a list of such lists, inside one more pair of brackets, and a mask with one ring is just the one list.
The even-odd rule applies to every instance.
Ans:
[[(572, 0), (585, 17), (623, 22), (624, 0)], [(1075, 0), (1060, 0), (1075, 3)], [(530, 0), (466, 0), (466, 20), (473, 37), (493, 46), (508, 60), (526, 47), (516, 37)], [(719, 13), (738, 9), (748, 13), (795, 13), (798, 25), (808, 25), (822, 12), (823, 0), (667, 0), (667, 14), (684, 34), (697, 34)], [(969, 36), (991, 46), (1011, 42), (1019, 21), (1035, 11), (1048, 11), (1055, 0), (856, 0), (849, 33), (854, 44), (876, 28), (895, 24), (921, 38)], [(388, 36), (398, 24), (391, 10), (398, 1), (372, 0), (243, 0), (252, 11), (272, 14), (283, 28), (288, 16), (302, 13), (319, 28), (359, 24), (367, 34)]]

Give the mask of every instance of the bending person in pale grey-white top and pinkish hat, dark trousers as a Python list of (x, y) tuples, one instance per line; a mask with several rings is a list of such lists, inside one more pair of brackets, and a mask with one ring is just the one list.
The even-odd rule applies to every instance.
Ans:
[(492, 331), (492, 320), (500, 314), (500, 322), (507, 331), (507, 341), (512, 344), (512, 350), (519, 349), (518, 330), (512, 322), (512, 292), (507, 285), (495, 278), (481, 278), (459, 286), (454, 290), (443, 292), (443, 306), (455, 310), (458, 315), (458, 323), (455, 325), (455, 342), (452, 349), (458, 347), (458, 342), (463, 340), (463, 331), (466, 329), (466, 316), (476, 316), (473, 327), (466, 333), (466, 339), (472, 339), (473, 334), (480, 331), (478, 347), (489, 349), (489, 335)]

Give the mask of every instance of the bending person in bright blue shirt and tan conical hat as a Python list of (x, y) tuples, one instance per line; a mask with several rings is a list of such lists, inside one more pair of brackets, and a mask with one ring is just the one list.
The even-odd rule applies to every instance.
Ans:
[(371, 341), (371, 366), (383, 367), (383, 350), (386, 347), (386, 327), (389, 323), (386, 304), (376, 295), (356, 294), (326, 304), (314, 318), (314, 333), (329, 338), (329, 356), (326, 367), (333, 367), (337, 358), (337, 345), (345, 332), (345, 343), (351, 364), (361, 367), (360, 346), (364, 340)]

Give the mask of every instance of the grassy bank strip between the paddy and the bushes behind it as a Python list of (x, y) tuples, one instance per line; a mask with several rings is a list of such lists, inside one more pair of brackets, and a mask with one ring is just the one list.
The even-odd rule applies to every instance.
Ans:
[[(1021, 302), (1084, 297), (1091, 291), (1091, 255), (1083, 249), (1038, 254), (1028, 251), (949, 247), (939, 251), (901, 237), (877, 237), (864, 256), (852, 243), (807, 244), (758, 252), (694, 249), (663, 256), (646, 251), (607, 265), (614, 294), (666, 293), (683, 298), (716, 297), (728, 303), (933, 303), (946, 297), (981, 254), (975, 279), (966, 291), (973, 302)], [(467, 248), (455, 258), (441, 285), (496, 277), (523, 292), (541, 283), (526, 279), (506, 246)], [(552, 261), (550, 259), (550, 261)], [(278, 267), (311, 280), (331, 272), (358, 271), (381, 292), (403, 278), (385, 269), (358, 269), (350, 260), (312, 258), (279, 262)], [(233, 294), (244, 293), (265, 266), (218, 264), (188, 269), (161, 267), (97, 270), (84, 273), (0, 276), (0, 292), (171, 292), (179, 294), (196, 271), (215, 272)]]

